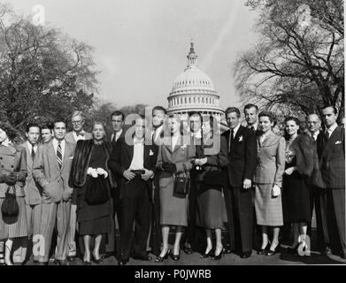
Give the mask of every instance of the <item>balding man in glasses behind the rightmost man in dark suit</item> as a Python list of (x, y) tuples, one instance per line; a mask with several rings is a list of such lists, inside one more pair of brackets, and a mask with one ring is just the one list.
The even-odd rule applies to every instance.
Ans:
[[(315, 142), (315, 149), (317, 153), (318, 159), (315, 161), (316, 169), (313, 176), (316, 176), (316, 174), (319, 174), (319, 158), (322, 155), (323, 150), (323, 132), (321, 131), (321, 121), (319, 119), (319, 115), (317, 114), (310, 114), (306, 118), (306, 124), (308, 127), (308, 134), (311, 136), (313, 141)], [(323, 243), (323, 229), (322, 229), (322, 219), (321, 219), (321, 212), (320, 212), (320, 203), (319, 203), (319, 190), (320, 188), (314, 183), (313, 180), (311, 180), (311, 215), (313, 208), (315, 209), (315, 215), (316, 215), (316, 229), (317, 229), (317, 243), (319, 246), (319, 249), (325, 249), (326, 244)], [(308, 224), (308, 234), (311, 237), (311, 222)]]

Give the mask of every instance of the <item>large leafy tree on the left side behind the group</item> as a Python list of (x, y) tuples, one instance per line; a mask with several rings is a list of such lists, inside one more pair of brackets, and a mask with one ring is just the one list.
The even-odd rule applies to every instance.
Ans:
[(31, 120), (88, 112), (97, 91), (92, 48), (4, 4), (0, 15), (0, 118), (23, 133)]

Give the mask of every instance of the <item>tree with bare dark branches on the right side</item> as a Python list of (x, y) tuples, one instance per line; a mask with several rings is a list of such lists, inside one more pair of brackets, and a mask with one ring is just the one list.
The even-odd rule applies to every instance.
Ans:
[(324, 104), (343, 111), (343, 1), (246, 5), (259, 12), (259, 43), (235, 64), (242, 98), (281, 114), (308, 114)]

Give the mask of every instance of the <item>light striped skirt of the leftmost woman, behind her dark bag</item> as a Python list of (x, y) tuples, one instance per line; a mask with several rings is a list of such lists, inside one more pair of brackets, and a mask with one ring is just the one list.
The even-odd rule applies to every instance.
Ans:
[[(16, 200), (19, 205), (19, 215), (17, 221), (12, 224), (6, 223), (3, 214), (0, 212), (0, 240), (8, 238), (27, 237), (27, 210), (24, 196), (17, 196)], [(4, 203), (4, 198), (0, 198), (0, 207)]]

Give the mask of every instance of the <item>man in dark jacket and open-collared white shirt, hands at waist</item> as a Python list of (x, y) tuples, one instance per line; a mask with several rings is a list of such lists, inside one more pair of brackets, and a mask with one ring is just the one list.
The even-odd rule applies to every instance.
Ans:
[(156, 172), (158, 148), (144, 144), (145, 119), (135, 120), (133, 138), (120, 138), (108, 163), (119, 176), (120, 188), (120, 257), (119, 264), (127, 264), (131, 250), (131, 235), (135, 224), (135, 259), (149, 261), (146, 243), (150, 231), (151, 180)]

